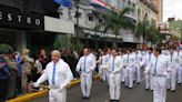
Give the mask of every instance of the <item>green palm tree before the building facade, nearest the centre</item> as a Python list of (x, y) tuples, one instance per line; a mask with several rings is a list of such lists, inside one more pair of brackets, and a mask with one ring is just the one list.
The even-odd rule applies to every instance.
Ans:
[(108, 11), (108, 13), (104, 13), (104, 21), (98, 24), (95, 30), (100, 31), (102, 28), (103, 32), (111, 30), (115, 37), (113, 39), (113, 47), (117, 47), (119, 31), (121, 29), (133, 30), (134, 28), (134, 24), (130, 21), (130, 19), (124, 16), (130, 11), (132, 11), (131, 8), (124, 8), (122, 11)]

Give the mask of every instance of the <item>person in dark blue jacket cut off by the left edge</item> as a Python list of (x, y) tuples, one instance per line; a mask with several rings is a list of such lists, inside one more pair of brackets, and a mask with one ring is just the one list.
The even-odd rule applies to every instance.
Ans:
[(10, 71), (3, 51), (0, 51), (0, 102), (6, 102)]

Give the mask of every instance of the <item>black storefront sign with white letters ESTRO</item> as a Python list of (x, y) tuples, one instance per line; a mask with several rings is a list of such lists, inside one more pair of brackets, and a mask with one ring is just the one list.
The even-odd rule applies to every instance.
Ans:
[(0, 27), (43, 30), (43, 16), (0, 6)]

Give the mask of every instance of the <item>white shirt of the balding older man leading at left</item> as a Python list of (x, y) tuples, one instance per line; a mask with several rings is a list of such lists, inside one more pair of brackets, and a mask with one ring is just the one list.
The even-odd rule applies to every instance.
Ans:
[(54, 62), (49, 62), (47, 64), (47, 68), (43, 74), (37, 81), (37, 84), (40, 84), (44, 82), (46, 80), (48, 80), (50, 86), (64, 88), (71, 82), (71, 80), (73, 79), (73, 75), (70, 70), (70, 67), (63, 60), (60, 59), (55, 63), (54, 84), (52, 84), (53, 68), (54, 68)]

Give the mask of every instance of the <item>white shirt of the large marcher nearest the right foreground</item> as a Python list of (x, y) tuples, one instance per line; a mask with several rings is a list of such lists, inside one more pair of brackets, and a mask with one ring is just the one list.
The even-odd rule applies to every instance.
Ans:
[(160, 54), (158, 58), (153, 57), (146, 67), (146, 72), (155, 76), (166, 76), (168, 73), (168, 59), (165, 55)]

